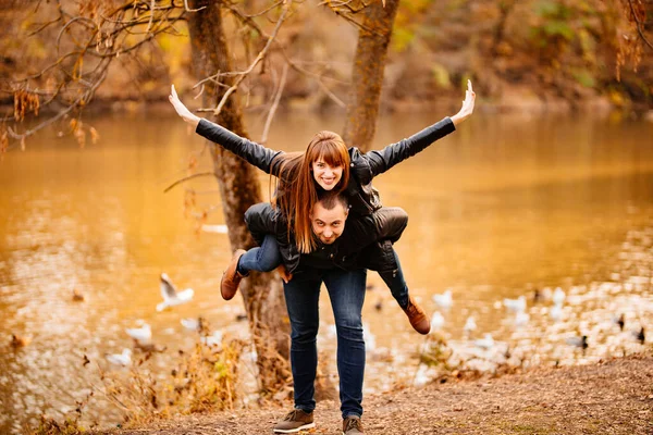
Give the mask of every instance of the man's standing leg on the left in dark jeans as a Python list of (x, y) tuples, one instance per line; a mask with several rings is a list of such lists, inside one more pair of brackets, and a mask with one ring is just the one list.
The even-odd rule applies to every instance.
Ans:
[(319, 273), (305, 272), (283, 285), (291, 319), (291, 365), (295, 384), (295, 408), (312, 412), (316, 408), (315, 382), (318, 369), (320, 285)]

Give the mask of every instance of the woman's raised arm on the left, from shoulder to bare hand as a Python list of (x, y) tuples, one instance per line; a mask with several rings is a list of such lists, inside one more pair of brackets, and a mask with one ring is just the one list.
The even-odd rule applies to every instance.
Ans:
[(245, 159), (261, 171), (264, 171), (268, 174), (271, 173), (272, 175), (278, 175), (274, 167), (272, 167), (272, 162), (276, 156), (282, 153), (282, 151), (266, 148), (262, 145), (241, 137), (215, 123), (197, 116), (180, 100), (176, 90), (174, 89), (174, 85), (172, 85), (170, 89), (168, 99), (177, 114), (185, 122), (195, 127), (197, 134), (212, 142), (221, 145), (224, 149)]

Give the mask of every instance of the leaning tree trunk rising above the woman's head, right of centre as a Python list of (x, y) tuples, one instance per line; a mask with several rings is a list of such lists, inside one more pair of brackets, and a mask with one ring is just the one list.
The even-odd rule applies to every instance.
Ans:
[(387, 45), (398, 5), (399, 0), (387, 0), (385, 8), (381, 1), (373, 2), (365, 9), (358, 30), (343, 139), (361, 150), (370, 148), (377, 130)]

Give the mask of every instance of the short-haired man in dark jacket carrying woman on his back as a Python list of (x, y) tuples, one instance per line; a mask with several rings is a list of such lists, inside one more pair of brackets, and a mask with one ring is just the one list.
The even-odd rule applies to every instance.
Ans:
[[(284, 283), (291, 319), (295, 409), (274, 426), (275, 433), (295, 433), (315, 426), (316, 341), (322, 283), (329, 291), (335, 318), (343, 433), (364, 433), (360, 417), (366, 353), (361, 310), (367, 270), (358, 264), (365, 263), (361, 257), (365, 257), (366, 246), (380, 239), (398, 239), (406, 227), (407, 215), (393, 208), (385, 209), (385, 214), (349, 223), (347, 215), (344, 196), (326, 194), (316, 203), (310, 217), (318, 248), (301, 256), (292, 279)], [(285, 223), (279, 222), (279, 214), (269, 204), (252, 206), (245, 219), (255, 238), (257, 233), (279, 234), (285, 228)]]

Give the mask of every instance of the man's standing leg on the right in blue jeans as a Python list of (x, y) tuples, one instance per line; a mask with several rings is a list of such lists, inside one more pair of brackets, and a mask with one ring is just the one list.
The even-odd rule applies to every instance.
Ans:
[(367, 271), (331, 270), (324, 274), (337, 332), (337, 372), (343, 419), (362, 415), (365, 341), (362, 302)]

